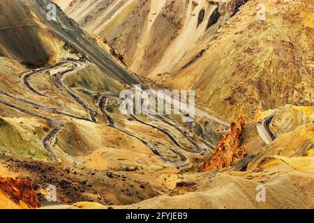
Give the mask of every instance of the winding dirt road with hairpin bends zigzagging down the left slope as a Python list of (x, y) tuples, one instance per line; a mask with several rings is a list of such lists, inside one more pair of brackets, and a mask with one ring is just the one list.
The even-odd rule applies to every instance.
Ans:
[[(70, 89), (68, 86), (66, 86), (66, 84), (64, 84), (64, 82), (63, 82), (64, 79), (66, 79), (66, 77), (68, 75), (73, 74), (74, 72), (77, 72), (78, 70), (81, 70), (82, 68), (85, 67), (85, 63), (83, 63), (82, 61), (62, 61), (60, 63), (55, 64), (54, 66), (33, 70), (33, 71), (28, 72), (27, 74), (22, 76), (22, 82), (24, 83), (25, 86), (27, 86), (27, 89), (29, 89), (29, 91), (31, 91), (32, 93), (35, 93), (36, 95), (41, 95), (41, 96), (47, 97), (47, 95), (45, 95), (44, 93), (41, 93), (41, 92), (37, 91), (36, 89), (34, 89), (33, 86), (31, 86), (29, 79), (31, 78), (32, 75), (36, 75), (36, 74), (42, 73), (42, 72), (47, 72), (49, 70), (63, 66), (63, 65), (68, 64), (68, 63), (73, 64), (74, 67), (68, 68), (67, 70), (64, 70), (61, 72), (57, 72), (56, 74), (52, 75), (52, 79), (54, 80), (54, 83), (56, 84), (56, 86), (59, 89), (61, 89), (62, 91), (66, 91), (68, 93), (68, 95), (70, 95), (77, 103), (82, 105), (82, 107), (84, 107), (84, 109), (86, 109), (89, 112), (90, 118), (82, 118), (82, 117), (78, 117), (78, 116), (73, 116), (73, 115), (67, 114), (65, 112), (60, 112), (59, 110), (54, 109), (54, 108), (45, 107), (43, 105), (38, 105), (37, 103), (31, 102), (29, 100), (23, 100), (21, 98), (17, 98), (17, 97), (10, 95), (8, 93), (5, 93), (5, 94), (11, 98), (15, 98), (15, 100), (20, 100), (22, 102), (28, 103), (29, 105), (33, 105), (34, 107), (38, 107), (40, 109), (45, 109), (45, 110), (47, 110), (49, 112), (53, 112), (55, 114), (62, 114), (65, 116), (70, 116), (73, 118), (80, 118), (80, 119), (83, 119), (85, 121), (92, 121), (94, 123), (97, 123), (97, 119), (96, 119), (97, 113), (93, 109), (91, 109), (91, 107), (89, 107), (87, 102), (82, 100), (82, 98), (80, 98), (74, 91), (72, 91), (72, 89)], [(110, 127), (115, 128), (121, 132), (124, 132), (124, 134), (127, 134), (130, 137), (133, 137), (135, 139), (140, 140), (145, 146), (147, 146), (155, 155), (160, 157), (160, 159), (163, 160), (164, 162), (172, 164), (176, 167), (183, 167), (189, 163), (188, 158), (184, 154), (180, 153), (179, 151), (175, 151), (174, 149), (170, 149), (170, 151), (172, 151), (172, 153), (174, 153), (175, 155), (177, 155), (177, 157), (179, 157), (179, 161), (174, 162), (172, 160), (167, 159), (163, 155), (161, 155), (160, 152), (158, 152), (158, 150), (156, 148), (154, 148), (154, 146), (152, 146), (148, 141), (145, 141), (144, 139), (133, 134), (132, 132), (128, 132), (127, 130), (124, 130), (124, 129), (117, 127), (114, 123), (114, 119), (109, 114), (107, 114), (107, 111), (105, 109), (105, 105), (107, 103), (107, 100), (110, 98), (118, 98), (119, 99), (119, 95), (117, 93), (105, 93), (100, 98), (99, 103), (98, 103), (98, 107), (99, 107), (100, 111), (103, 113), (103, 115), (105, 116), (105, 118), (107, 119), (107, 121), (109, 122)], [(27, 111), (24, 111), (24, 113), (27, 113)], [(52, 120), (51, 118), (47, 118), (46, 116), (41, 116), (38, 114), (33, 114), (33, 115), (40, 116), (42, 118), (49, 120), (50, 123), (52, 123), (52, 126), (54, 126), (54, 128), (43, 139), (43, 145), (47, 149), (47, 151), (50, 151), (50, 158), (52, 159), (52, 161), (57, 162), (57, 157), (52, 152), (52, 148), (51, 148), (50, 144), (51, 144), (52, 139), (57, 135), (59, 130), (61, 130), (63, 125), (61, 123), (58, 123), (55, 120)], [(181, 144), (179, 144), (179, 141), (177, 141), (177, 139), (165, 128), (161, 128), (161, 127), (159, 127), (157, 125), (153, 125), (151, 123), (146, 123), (134, 115), (130, 115), (130, 118), (133, 118), (133, 120), (135, 120), (139, 123), (142, 123), (143, 125), (148, 125), (151, 128), (155, 128), (155, 129), (159, 130), (160, 132), (163, 132), (174, 143), (175, 146), (179, 147), (180, 149), (182, 149), (184, 151), (187, 151), (189, 153), (196, 153), (196, 154), (202, 154), (202, 153), (204, 153), (204, 151), (206, 151), (205, 148), (202, 148), (202, 146), (200, 146), (195, 141), (193, 141), (193, 139), (190, 138), (190, 136), (188, 135), (188, 133), (185, 130), (182, 130), (181, 128), (179, 128), (179, 126), (172, 123), (171, 118), (169, 118), (169, 117), (164, 117), (164, 116), (159, 116), (159, 115), (154, 116), (154, 118), (157, 118), (158, 120), (163, 121), (167, 125), (170, 125), (173, 128), (176, 128), (179, 132), (181, 132), (181, 134), (190, 142), (190, 144), (193, 145), (194, 149), (185, 148), (184, 146), (181, 146)], [(167, 119), (169, 119), (169, 120), (167, 120)], [(214, 148), (214, 146), (209, 144), (206, 140), (202, 140), (202, 143), (211, 149)]]

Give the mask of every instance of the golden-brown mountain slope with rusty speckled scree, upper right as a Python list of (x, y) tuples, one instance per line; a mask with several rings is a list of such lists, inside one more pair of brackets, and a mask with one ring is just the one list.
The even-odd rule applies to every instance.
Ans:
[(303, 16), (313, 15), (313, 5), (267, 2), (266, 21), (255, 18), (257, 1), (248, 2), (195, 50), (207, 50), (198, 61), (188, 68), (192, 58), (181, 61), (167, 84), (195, 89), (204, 107), (228, 119), (286, 104), (313, 106), (314, 29)]

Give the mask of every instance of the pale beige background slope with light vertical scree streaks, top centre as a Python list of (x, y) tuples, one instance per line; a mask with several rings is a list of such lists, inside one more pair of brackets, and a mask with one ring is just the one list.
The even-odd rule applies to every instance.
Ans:
[(107, 38), (131, 70), (147, 76), (172, 70), (246, 1), (55, 2), (85, 29)]

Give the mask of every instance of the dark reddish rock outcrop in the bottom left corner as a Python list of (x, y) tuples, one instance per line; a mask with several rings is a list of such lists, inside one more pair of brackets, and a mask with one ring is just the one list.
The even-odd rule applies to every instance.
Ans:
[(28, 208), (40, 208), (40, 203), (29, 180), (0, 176), (0, 190), (3, 190), (12, 201), (22, 207), (26, 205)]

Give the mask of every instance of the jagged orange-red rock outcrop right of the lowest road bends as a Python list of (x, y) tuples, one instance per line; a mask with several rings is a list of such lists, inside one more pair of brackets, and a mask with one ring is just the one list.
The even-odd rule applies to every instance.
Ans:
[(200, 164), (200, 168), (204, 170), (224, 169), (231, 167), (234, 162), (244, 157), (246, 152), (241, 146), (241, 134), (245, 125), (246, 118), (243, 115), (231, 123), (230, 133), (221, 137), (211, 159)]

